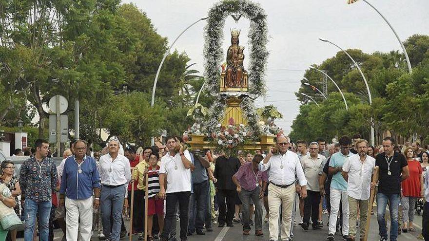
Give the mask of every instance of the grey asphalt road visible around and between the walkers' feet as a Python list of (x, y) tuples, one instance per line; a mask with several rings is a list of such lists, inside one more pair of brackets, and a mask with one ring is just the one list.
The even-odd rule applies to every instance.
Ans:
[[(265, 212), (265, 210), (264, 210)], [(296, 212), (298, 219), (299, 217), (299, 211)], [(324, 223), (328, 222), (328, 215), (324, 214), (323, 216)], [(409, 241), (409, 240), (417, 240), (417, 236), (421, 233), (421, 223), (422, 223), (422, 216), (418, 216), (417, 214), (414, 216), (415, 221), (415, 228), (417, 229), (416, 232), (413, 233), (403, 233), (399, 235), (398, 241)], [(378, 241), (378, 224), (377, 219), (375, 215), (371, 216), (371, 225), (370, 225), (370, 235), (368, 241)], [(127, 229), (129, 227), (129, 222), (126, 221)], [(177, 223), (178, 225), (178, 223)], [(269, 231), (268, 231), (268, 223), (263, 223), (263, 232), (264, 236), (262, 237), (256, 237), (254, 236), (254, 226), (252, 226), (251, 235), (250, 236), (243, 236), (242, 235), (242, 225), (240, 224), (234, 224), (234, 227), (223, 227), (219, 228), (217, 225), (213, 226), (214, 231), (213, 232), (207, 232), (206, 235), (193, 235), (189, 236), (189, 241), (268, 241), (269, 238)], [(177, 231), (179, 231), (180, 228), (177, 227)], [(308, 231), (304, 231), (300, 226), (295, 226), (294, 230), (294, 241), (324, 241), (326, 240), (326, 236), (328, 235), (328, 227), (324, 225), (323, 230), (316, 231), (312, 230), (311, 228)], [(60, 241), (62, 238), (62, 232), (59, 229), (55, 230), (55, 241)], [(22, 241), (23, 239), (18, 239), (19, 241)], [(125, 240), (128, 240), (128, 237), (126, 237)], [(335, 240), (342, 240), (342, 237), (340, 234), (335, 236)], [(93, 241), (98, 241), (96, 237), (93, 238)], [(137, 241), (137, 236), (133, 236), (133, 241)]]

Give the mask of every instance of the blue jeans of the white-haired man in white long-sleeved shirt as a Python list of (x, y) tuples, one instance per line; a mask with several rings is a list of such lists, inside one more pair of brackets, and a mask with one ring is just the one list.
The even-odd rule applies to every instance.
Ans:
[[(122, 206), (124, 204), (125, 186), (101, 186), (100, 208), (103, 233), (110, 241), (119, 241), (122, 226)], [(110, 221), (112, 217), (113, 222)]]

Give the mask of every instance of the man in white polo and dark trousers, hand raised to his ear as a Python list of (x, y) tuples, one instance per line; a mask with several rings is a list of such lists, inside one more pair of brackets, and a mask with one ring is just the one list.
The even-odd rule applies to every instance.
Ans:
[[(172, 221), (176, 219), (179, 204), (180, 239), (188, 241), (189, 197), (191, 195), (191, 155), (174, 136), (167, 137), (168, 152), (162, 157), (159, 168), (159, 196), (166, 200), (166, 213), (161, 241), (168, 241)], [(167, 190), (165, 189), (167, 184)]]

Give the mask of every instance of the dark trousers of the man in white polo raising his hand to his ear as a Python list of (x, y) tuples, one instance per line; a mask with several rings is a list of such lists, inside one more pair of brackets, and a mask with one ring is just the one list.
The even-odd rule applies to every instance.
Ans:
[(189, 196), (191, 192), (173, 192), (166, 194), (166, 207), (164, 230), (162, 230), (161, 237), (168, 240), (173, 219), (176, 219), (176, 204), (179, 204), (180, 213), (180, 239), (186, 240), (186, 233), (188, 232), (188, 212), (189, 212)]

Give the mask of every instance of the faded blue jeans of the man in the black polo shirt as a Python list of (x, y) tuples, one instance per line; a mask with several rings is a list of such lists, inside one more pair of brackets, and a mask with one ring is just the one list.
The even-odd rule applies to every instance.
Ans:
[(399, 194), (386, 195), (384, 193), (377, 193), (377, 220), (378, 230), (381, 237), (388, 239), (386, 220), (386, 205), (389, 201), (390, 209), (390, 241), (396, 241), (398, 238), (398, 213), (399, 213)]

